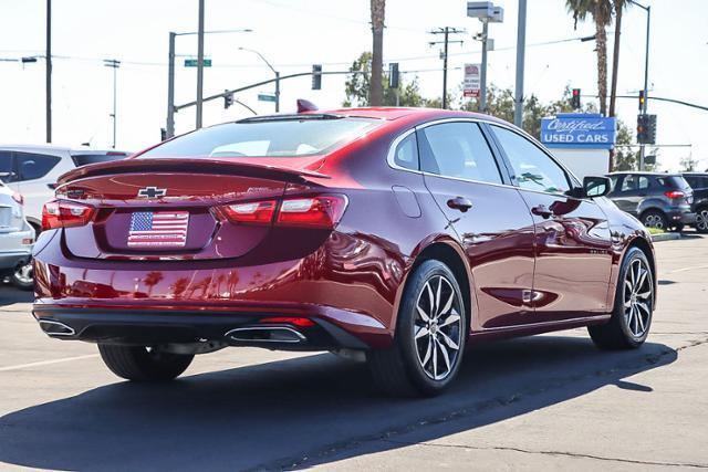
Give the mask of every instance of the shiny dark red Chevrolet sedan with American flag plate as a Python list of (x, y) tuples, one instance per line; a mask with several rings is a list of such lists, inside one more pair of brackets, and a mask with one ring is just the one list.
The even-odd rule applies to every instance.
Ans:
[(227, 346), (365, 358), (434, 395), (468, 342), (587, 326), (636, 348), (650, 237), (535, 139), (487, 115), (258, 116), (64, 175), (44, 206), (33, 313), (166, 380)]

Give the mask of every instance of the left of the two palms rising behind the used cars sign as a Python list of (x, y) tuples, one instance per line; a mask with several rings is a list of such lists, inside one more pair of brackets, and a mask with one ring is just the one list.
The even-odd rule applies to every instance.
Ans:
[(595, 43), (597, 52), (597, 95), (600, 113), (607, 114), (607, 25), (612, 23), (612, 0), (565, 0), (565, 7), (573, 13), (574, 28), (577, 21), (584, 21), (587, 14), (595, 22)]

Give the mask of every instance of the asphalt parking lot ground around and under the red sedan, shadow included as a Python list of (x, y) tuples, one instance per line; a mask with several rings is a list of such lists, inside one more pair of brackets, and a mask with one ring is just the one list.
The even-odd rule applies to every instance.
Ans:
[(470, 349), (451, 390), (378, 396), (330, 354), (225, 349), (135, 385), (92, 345), (46, 338), (0, 287), (0, 469), (708, 469), (708, 238), (656, 244), (645, 346), (584, 329)]

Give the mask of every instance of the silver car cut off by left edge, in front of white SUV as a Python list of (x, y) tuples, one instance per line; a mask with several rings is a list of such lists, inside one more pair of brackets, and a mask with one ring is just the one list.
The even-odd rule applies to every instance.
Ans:
[(18, 287), (30, 290), (34, 230), (24, 219), (22, 197), (0, 181), (0, 283), (6, 277)]

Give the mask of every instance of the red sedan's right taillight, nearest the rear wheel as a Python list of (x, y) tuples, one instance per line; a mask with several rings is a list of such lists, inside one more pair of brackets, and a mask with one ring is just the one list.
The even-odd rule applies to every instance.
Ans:
[(346, 204), (346, 197), (327, 195), (228, 204), (220, 211), (235, 223), (269, 224), (277, 213), (277, 225), (334, 229)]

